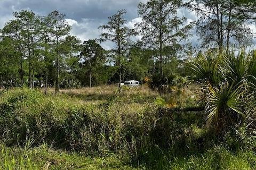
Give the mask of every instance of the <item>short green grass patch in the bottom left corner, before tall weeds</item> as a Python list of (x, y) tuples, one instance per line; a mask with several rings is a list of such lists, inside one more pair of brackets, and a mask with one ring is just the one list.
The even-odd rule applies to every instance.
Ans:
[[(2, 146), (0, 169), (135, 169), (116, 155), (86, 157), (78, 152), (66, 152), (40, 147), (25, 149)], [(136, 168), (140, 169), (140, 168)]]

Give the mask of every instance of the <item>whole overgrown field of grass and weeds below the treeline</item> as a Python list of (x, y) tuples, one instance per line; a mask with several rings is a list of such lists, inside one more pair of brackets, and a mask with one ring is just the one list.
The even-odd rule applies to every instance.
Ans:
[(198, 89), (3, 90), (0, 169), (256, 169), (255, 138), (216, 138)]

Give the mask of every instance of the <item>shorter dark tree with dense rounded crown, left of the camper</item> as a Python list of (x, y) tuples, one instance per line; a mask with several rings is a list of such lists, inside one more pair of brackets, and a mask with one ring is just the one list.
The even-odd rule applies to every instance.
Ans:
[(89, 65), (90, 88), (92, 87), (92, 74), (98, 69), (98, 65), (105, 62), (104, 49), (95, 40), (84, 41), (81, 57), (83, 63)]

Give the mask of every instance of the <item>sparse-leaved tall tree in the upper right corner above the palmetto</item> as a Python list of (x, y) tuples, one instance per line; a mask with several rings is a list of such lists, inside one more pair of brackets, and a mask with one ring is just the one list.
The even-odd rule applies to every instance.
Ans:
[(198, 15), (196, 29), (202, 38), (202, 46), (217, 45), (222, 52), (223, 48), (230, 48), (231, 42), (238, 43), (238, 46), (251, 43), (253, 35), (248, 24), (250, 16), (255, 13), (252, 3), (239, 0), (191, 0), (185, 5)]

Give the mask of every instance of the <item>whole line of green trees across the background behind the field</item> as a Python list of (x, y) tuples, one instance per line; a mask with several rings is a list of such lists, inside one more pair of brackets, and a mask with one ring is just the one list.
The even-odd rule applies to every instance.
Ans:
[[(83, 43), (70, 36), (65, 15), (53, 11), (38, 16), (33, 11), (14, 12), (14, 19), (1, 29), (0, 82), (2, 86), (95, 86), (126, 79), (149, 82), (151, 87), (171, 84), (177, 75), (186, 75), (184, 59), (202, 50), (224, 52), (252, 45), (255, 24), (252, 0), (150, 0), (138, 4), (142, 18), (135, 28), (126, 27), (125, 10), (110, 16), (101, 25), (99, 39)], [(178, 15), (187, 8), (197, 14), (188, 22)], [(195, 29), (201, 47), (189, 42)], [(135, 36), (140, 36), (134, 41)], [(115, 47), (105, 50), (102, 41)], [(199, 43), (198, 43), (199, 44)]]

